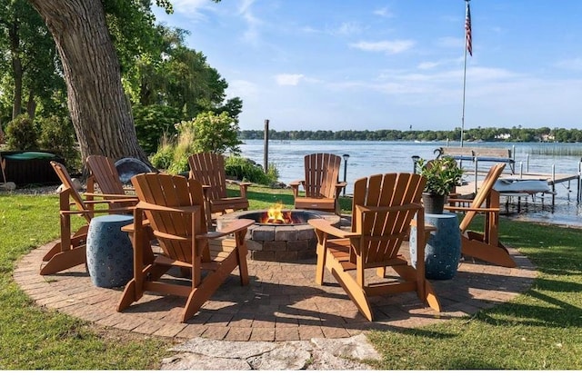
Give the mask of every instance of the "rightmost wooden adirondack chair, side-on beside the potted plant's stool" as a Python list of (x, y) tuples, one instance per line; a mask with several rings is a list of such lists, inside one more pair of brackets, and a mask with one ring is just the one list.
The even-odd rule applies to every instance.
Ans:
[[(473, 200), (451, 198), (445, 209), (453, 213), (465, 213), (463, 220), (459, 223), (459, 229), (463, 235), (461, 236), (461, 252), (464, 255), (515, 268), (516, 262), (507, 252), (506, 246), (499, 242), (499, 193), (493, 189), (505, 166), (506, 163), (491, 166)], [(469, 225), (477, 214), (481, 213), (485, 214), (483, 233), (469, 231)]]

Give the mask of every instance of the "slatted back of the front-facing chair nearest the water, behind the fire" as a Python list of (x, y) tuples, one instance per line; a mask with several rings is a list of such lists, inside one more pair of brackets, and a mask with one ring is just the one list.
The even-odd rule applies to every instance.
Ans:
[(330, 153), (313, 153), (305, 156), (306, 197), (336, 197), (336, 183), (342, 159)]

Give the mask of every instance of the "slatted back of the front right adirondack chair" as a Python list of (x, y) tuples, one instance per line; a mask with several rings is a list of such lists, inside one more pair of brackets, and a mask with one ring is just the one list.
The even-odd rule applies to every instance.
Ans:
[(416, 173), (376, 174), (356, 181), (352, 232), (362, 236), (353, 247), (362, 254), (364, 268), (396, 258), (421, 208), (425, 184), (426, 178)]

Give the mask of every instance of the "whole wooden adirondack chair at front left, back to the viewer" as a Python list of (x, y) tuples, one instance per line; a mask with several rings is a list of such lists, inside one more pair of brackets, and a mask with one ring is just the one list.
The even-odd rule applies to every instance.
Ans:
[[(181, 315), (181, 322), (186, 322), (236, 267), (241, 284), (248, 283), (245, 234), (254, 221), (237, 220), (221, 232), (208, 233), (201, 183), (164, 173), (140, 173), (131, 181), (140, 200), (134, 216), (146, 214), (162, 253), (142, 267), (145, 260), (139, 250), (143, 249), (144, 227), (134, 221), (134, 278), (125, 286), (118, 312), (139, 301), (146, 291), (161, 292), (187, 298)], [(161, 279), (172, 266), (189, 272), (189, 285)]]

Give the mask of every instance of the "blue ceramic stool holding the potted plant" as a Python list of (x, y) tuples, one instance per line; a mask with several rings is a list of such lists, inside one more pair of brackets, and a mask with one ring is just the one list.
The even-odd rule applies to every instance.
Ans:
[[(450, 280), (457, 274), (461, 258), (461, 232), (458, 228), (457, 214), (425, 214), (425, 224), (435, 226), (436, 231), (426, 238), (425, 275), (429, 280)], [(416, 245), (416, 227), (410, 232), (410, 249)], [(413, 265), (416, 254), (411, 252)]]

